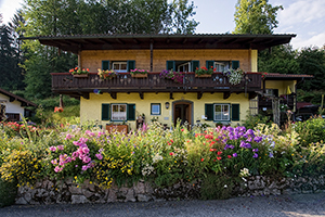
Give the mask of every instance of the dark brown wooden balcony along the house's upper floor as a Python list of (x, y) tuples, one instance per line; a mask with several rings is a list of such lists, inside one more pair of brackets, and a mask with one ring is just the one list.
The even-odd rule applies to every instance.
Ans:
[[(95, 89), (108, 92), (225, 92), (240, 93), (261, 90), (261, 74), (247, 73), (239, 85), (233, 86), (222, 73), (214, 73), (209, 78), (195, 77), (194, 73), (184, 73), (182, 84), (159, 76), (160, 73), (150, 73), (147, 78), (132, 78), (129, 73), (119, 74), (113, 79), (100, 79), (96, 73), (90, 73), (87, 78), (76, 78), (69, 73), (52, 73), (52, 90), (72, 97), (88, 98)], [(200, 98), (198, 95), (198, 98)]]

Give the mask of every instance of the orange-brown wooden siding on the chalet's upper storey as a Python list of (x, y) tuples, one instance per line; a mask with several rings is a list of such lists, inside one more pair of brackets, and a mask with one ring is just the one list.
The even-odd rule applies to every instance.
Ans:
[[(225, 50), (225, 49), (178, 49), (178, 50), (155, 50), (153, 52), (154, 72), (166, 69), (166, 61), (199, 61), (200, 66), (206, 66), (206, 61), (239, 61), (240, 68), (249, 72), (251, 66), (249, 50)], [(256, 56), (253, 56), (256, 58)], [(102, 67), (102, 61), (127, 61), (134, 60), (135, 67), (151, 69), (150, 50), (94, 50), (81, 52), (82, 67), (96, 72)]]

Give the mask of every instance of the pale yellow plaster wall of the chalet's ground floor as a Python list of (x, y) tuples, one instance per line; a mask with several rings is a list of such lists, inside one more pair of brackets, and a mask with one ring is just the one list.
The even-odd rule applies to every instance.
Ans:
[[(169, 102), (170, 107), (167, 110), (165, 103)], [(86, 120), (96, 120), (101, 125), (106, 125), (110, 123), (109, 120), (101, 120), (102, 118), (102, 103), (134, 103), (135, 104), (135, 116), (145, 114), (146, 123), (151, 123), (153, 117), (158, 117), (158, 122), (161, 124), (167, 124), (171, 126), (173, 123), (173, 103), (177, 102), (190, 102), (192, 103), (192, 125), (195, 125), (197, 120), (200, 123), (206, 123), (210, 126), (214, 126), (216, 123), (211, 120), (205, 120), (205, 104), (206, 103), (222, 103), (222, 104), (240, 104), (239, 117), (240, 120), (245, 119), (247, 111), (249, 108), (248, 95), (245, 93), (236, 94), (232, 93), (226, 100), (223, 99), (223, 93), (204, 93), (202, 99), (197, 99), (196, 93), (174, 93), (173, 100), (169, 99), (169, 93), (144, 93), (144, 99), (142, 100), (139, 97), (139, 93), (117, 93), (117, 99), (114, 100), (108, 93), (94, 94), (91, 93), (89, 100), (81, 98), (80, 100), (80, 116), (81, 122)], [(151, 115), (151, 103), (160, 103), (161, 104), (161, 114), (160, 115)], [(128, 125), (134, 129), (135, 120), (127, 122)], [(240, 122), (232, 122), (232, 125), (237, 125)]]

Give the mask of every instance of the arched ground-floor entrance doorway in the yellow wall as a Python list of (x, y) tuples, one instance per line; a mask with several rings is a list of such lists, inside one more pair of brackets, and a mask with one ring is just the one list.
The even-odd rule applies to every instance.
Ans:
[(181, 125), (186, 122), (188, 125), (193, 125), (193, 102), (191, 101), (177, 101), (172, 106), (173, 124), (176, 125), (178, 119), (181, 120)]

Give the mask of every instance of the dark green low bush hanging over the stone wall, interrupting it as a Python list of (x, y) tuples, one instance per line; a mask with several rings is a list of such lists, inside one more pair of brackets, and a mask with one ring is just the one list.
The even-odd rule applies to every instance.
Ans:
[(202, 182), (200, 196), (203, 200), (226, 200), (231, 197), (233, 187), (234, 178), (208, 174)]

